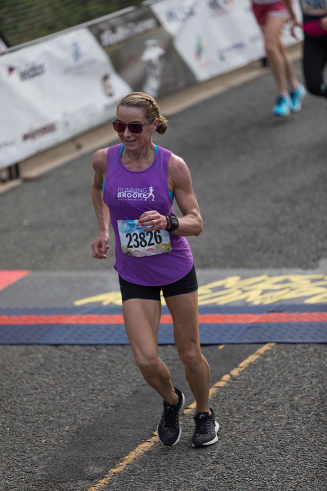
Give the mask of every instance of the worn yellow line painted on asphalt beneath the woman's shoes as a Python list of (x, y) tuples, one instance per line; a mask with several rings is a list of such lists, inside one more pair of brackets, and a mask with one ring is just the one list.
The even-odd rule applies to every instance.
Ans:
[[(241, 361), (236, 368), (231, 370), (228, 374), (223, 375), (223, 377), (216, 382), (210, 389), (210, 397), (212, 397), (219, 389), (224, 387), (232, 377), (238, 377), (251, 363), (260, 358), (261, 355), (270, 350), (276, 343), (267, 343), (258, 350), (256, 350), (252, 355), (248, 356), (245, 360)], [(220, 348), (221, 349), (221, 348)], [(195, 408), (195, 401), (190, 404), (186, 409), (184, 409), (184, 414), (191, 412)], [(138, 445), (134, 450), (132, 450), (119, 464), (115, 465), (109, 470), (108, 474), (104, 476), (101, 481), (89, 488), (88, 491), (101, 491), (111, 480), (111, 478), (122, 472), (126, 467), (133, 461), (141, 457), (145, 452), (151, 449), (153, 445), (157, 442), (156, 432), (149, 438), (149, 440), (144, 441)]]

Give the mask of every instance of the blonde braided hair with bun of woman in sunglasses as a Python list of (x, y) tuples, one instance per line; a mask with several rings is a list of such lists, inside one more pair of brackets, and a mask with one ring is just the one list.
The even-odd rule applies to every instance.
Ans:
[(159, 135), (163, 135), (167, 131), (168, 121), (160, 114), (158, 103), (151, 95), (145, 94), (144, 92), (132, 92), (123, 97), (117, 106), (117, 110), (120, 106), (144, 109), (144, 114), (148, 121), (153, 121), (155, 118), (159, 119), (157, 129), (155, 130)]

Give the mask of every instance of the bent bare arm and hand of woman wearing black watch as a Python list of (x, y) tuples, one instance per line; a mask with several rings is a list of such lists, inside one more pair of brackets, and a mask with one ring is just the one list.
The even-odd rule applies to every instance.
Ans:
[[(168, 163), (168, 181), (183, 215), (178, 218), (179, 227), (172, 233), (183, 236), (200, 235), (203, 224), (198, 201), (193, 191), (191, 173), (183, 159), (174, 154), (171, 155)], [(167, 227), (165, 215), (161, 215), (156, 210), (146, 211), (139, 219), (142, 224), (150, 222), (150, 226), (148, 225), (150, 230), (164, 230)]]

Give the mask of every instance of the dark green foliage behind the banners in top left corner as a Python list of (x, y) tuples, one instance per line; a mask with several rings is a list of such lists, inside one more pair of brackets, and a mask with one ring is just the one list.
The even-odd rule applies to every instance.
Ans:
[(0, 0), (0, 37), (9, 46), (32, 41), (142, 0)]

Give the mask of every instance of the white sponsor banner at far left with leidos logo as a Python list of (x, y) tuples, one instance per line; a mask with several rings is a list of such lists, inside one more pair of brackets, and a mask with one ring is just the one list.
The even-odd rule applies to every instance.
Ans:
[(132, 89), (88, 29), (0, 57), (0, 169), (97, 126)]

